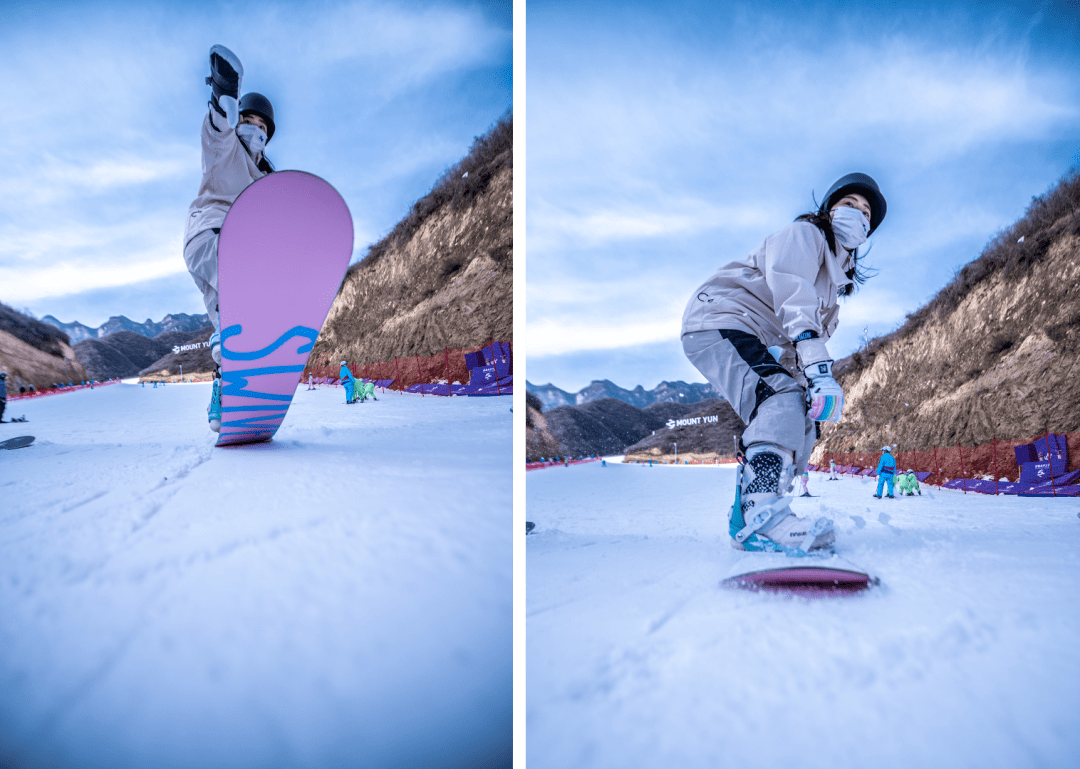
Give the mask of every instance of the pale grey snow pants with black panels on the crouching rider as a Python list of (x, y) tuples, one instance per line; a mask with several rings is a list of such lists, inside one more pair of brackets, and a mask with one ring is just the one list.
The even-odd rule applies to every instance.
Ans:
[(785, 448), (795, 456), (795, 473), (806, 472), (818, 437), (806, 391), (765, 342), (742, 330), (690, 332), (683, 335), (683, 351), (746, 424), (743, 446)]

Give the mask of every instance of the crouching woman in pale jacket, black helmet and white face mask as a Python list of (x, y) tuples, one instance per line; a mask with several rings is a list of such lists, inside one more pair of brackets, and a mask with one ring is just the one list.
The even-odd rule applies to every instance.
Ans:
[[(718, 269), (690, 296), (683, 350), (746, 424), (729, 514), (738, 550), (799, 554), (835, 540), (829, 518), (796, 516), (786, 493), (810, 458), (815, 422), (840, 419), (843, 391), (825, 342), (836, 330), (838, 297), (866, 280), (858, 248), (885, 215), (877, 183), (848, 174), (816, 211)], [(781, 348), (779, 362), (770, 347)]]

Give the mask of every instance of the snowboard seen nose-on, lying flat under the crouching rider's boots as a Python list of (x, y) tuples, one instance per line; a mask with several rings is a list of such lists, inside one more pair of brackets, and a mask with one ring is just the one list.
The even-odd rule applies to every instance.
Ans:
[(740, 557), (720, 581), (725, 588), (773, 593), (856, 593), (880, 580), (835, 553), (792, 557), (751, 553)]

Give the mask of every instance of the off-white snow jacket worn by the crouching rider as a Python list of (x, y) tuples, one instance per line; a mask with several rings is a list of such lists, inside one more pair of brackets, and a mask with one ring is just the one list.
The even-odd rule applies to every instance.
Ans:
[(825, 234), (796, 221), (765, 239), (744, 259), (721, 267), (694, 289), (683, 313), (683, 334), (733, 328), (783, 348), (781, 364), (795, 364), (793, 340), (815, 332), (824, 342), (839, 321), (837, 298), (851, 283), (852, 255), (829, 249)]

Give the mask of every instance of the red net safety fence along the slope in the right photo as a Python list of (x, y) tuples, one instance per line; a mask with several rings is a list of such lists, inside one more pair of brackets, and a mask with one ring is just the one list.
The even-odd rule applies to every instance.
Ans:
[[(1013, 450), (1016, 446), (1024, 446), (1045, 440), (1049, 431), (1036, 435), (1031, 439), (1018, 441), (998, 441), (984, 443), (981, 446), (934, 446), (927, 450), (912, 449), (909, 451), (893, 451), (896, 459), (897, 470), (914, 470), (917, 473), (929, 472), (930, 476), (926, 483), (932, 486), (941, 486), (947, 481), (966, 478), (977, 481), (980, 478), (994, 478), (1000, 481), (1007, 478), (1009, 483), (1017, 483), (1021, 480), (1021, 467), (1016, 463), (1016, 454)], [(1080, 469), (1080, 433), (1057, 433), (1058, 440), (1065, 439), (1067, 450), (1064, 470), (1059, 469), (1056, 460), (1053, 462), (1053, 475), (1065, 475), (1068, 472)], [(837, 468), (877, 467), (881, 458), (881, 451), (843, 451), (823, 455), (821, 462), (825, 472), (828, 471), (828, 462), (833, 460)]]

